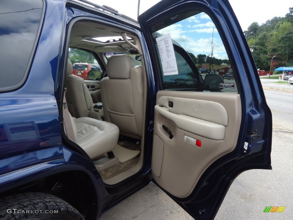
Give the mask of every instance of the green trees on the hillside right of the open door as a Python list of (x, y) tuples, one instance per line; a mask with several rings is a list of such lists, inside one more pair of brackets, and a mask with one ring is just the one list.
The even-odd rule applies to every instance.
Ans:
[(244, 34), (258, 68), (268, 71), (273, 56), (276, 67), (293, 63), (293, 7), (285, 17), (274, 17), (259, 28), (253, 22)]

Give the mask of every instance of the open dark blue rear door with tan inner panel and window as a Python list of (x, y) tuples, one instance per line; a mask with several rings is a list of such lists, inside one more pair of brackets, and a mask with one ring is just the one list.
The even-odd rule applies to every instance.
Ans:
[(253, 57), (228, 1), (163, 0), (138, 20), (159, 88), (154, 181), (195, 219), (213, 219), (237, 175), (271, 169)]

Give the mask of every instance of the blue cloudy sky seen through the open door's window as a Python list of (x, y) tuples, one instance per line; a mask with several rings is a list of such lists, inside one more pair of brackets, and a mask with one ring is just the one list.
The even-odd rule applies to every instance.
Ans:
[(217, 28), (206, 13), (199, 13), (186, 18), (158, 32), (161, 34), (170, 33), (173, 40), (176, 40), (186, 51), (194, 55), (209, 55), (211, 53), (213, 28), (213, 57), (228, 59)]

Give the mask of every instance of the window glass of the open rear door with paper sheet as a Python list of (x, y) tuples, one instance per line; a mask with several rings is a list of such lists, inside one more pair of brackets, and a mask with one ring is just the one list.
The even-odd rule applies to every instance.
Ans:
[(238, 92), (233, 66), (206, 13), (175, 15), (153, 26), (152, 35), (163, 89)]

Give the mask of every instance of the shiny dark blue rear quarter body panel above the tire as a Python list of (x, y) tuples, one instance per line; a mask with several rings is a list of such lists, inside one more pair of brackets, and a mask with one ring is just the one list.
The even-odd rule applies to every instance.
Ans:
[(25, 83), (16, 91), (0, 93), (0, 191), (58, 172), (83, 170), (104, 198), (107, 193), (98, 185), (102, 181), (93, 163), (62, 144), (55, 88), (60, 85), (64, 58), (60, 51), (64, 47), (65, 2), (48, 0), (45, 6)]

